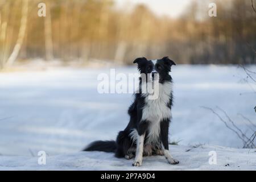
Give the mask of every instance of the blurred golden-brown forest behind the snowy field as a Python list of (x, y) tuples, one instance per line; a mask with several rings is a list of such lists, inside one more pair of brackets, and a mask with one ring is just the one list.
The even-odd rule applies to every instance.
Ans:
[[(46, 17), (38, 16), (41, 2)], [(210, 2), (217, 17), (208, 16)], [(0, 67), (35, 58), (131, 64), (141, 56), (170, 56), (179, 64), (253, 64), (255, 20), (250, 0), (192, 1), (175, 19), (146, 5), (117, 9), (112, 0), (0, 0)]]

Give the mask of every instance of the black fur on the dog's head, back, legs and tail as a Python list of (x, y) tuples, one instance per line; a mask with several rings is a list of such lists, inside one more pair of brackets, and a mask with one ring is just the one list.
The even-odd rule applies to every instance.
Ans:
[[(153, 70), (159, 73), (159, 82), (164, 83), (166, 81), (172, 82), (172, 77), (169, 72), (171, 71), (171, 66), (176, 65), (174, 61), (170, 60), (168, 57), (163, 57), (157, 60), (154, 65), (151, 60), (147, 60), (145, 57), (140, 57), (134, 60), (133, 63), (138, 64), (138, 70), (141, 73), (151, 73)], [(139, 82), (140, 92), (135, 93), (135, 98), (133, 104), (129, 107), (128, 114), (130, 115), (130, 121), (126, 126), (125, 130), (120, 131), (117, 135), (117, 139), (114, 141), (96, 141), (89, 144), (84, 151), (105, 151), (105, 152), (115, 152), (117, 158), (123, 158), (125, 155), (133, 154), (135, 155), (134, 148), (136, 148), (136, 143), (130, 137), (131, 131), (136, 129), (139, 135), (145, 133), (145, 141), (148, 135), (148, 121), (141, 121), (142, 111), (145, 105), (145, 96), (141, 93), (142, 80)], [(172, 91), (170, 91), (170, 100), (167, 106), (172, 107)], [(154, 111), (152, 111), (154, 112)], [(171, 118), (163, 119), (160, 122), (160, 136), (159, 140), (163, 144), (164, 149), (168, 150), (168, 127)], [(152, 150), (158, 148), (157, 144), (153, 144)]]

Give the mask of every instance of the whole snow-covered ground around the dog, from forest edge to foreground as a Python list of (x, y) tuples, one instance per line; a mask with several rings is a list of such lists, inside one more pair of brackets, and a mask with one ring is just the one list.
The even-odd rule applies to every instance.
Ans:
[[(255, 71), (256, 67), (250, 69)], [(137, 70), (118, 67), (115, 72), (128, 74)], [(132, 94), (98, 93), (100, 73), (109, 74), (110, 68), (0, 73), (0, 169), (131, 169), (131, 162), (115, 159), (112, 154), (79, 152), (93, 140), (115, 139), (129, 121), (127, 108)], [(247, 163), (250, 169), (256, 169), (253, 150), (250, 152), (254, 154), (250, 154), (245, 149), (215, 146), (241, 148), (242, 141), (216, 115), (201, 107), (212, 107), (225, 118), (216, 108), (221, 107), (250, 135), (256, 128), (256, 88), (241, 81), (245, 72), (236, 66), (177, 65), (171, 75), (175, 100), (170, 140), (180, 140), (181, 146), (172, 148), (181, 164), (166, 163), (161, 168), (240, 169), (237, 166)], [(185, 152), (189, 148), (186, 146), (199, 143), (206, 145), (201, 150)], [(208, 164), (208, 152), (213, 148), (220, 151), (217, 167)], [(48, 164), (43, 167), (34, 163), (42, 150), (49, 155)], [(145, 159), (141, 169), (154, 166), (150, 161), (165, 162), (157, 158), (161, 157)], [(105, 162), (108, 166), (104, 166)], [(231, 166), (224, 167), (225, 163)]]

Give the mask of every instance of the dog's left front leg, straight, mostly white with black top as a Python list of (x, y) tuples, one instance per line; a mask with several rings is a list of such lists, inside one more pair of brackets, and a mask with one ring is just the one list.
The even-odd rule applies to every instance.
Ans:
[(141, 121), (138, 124), (138, 135), (137, 135), (137, 148), (136, 148), (136, 156), (133, 163), (133, 166), (141, 166), (142, 158), (143, 158), (143, 146), (144, 146), (144, 138), (147, 130), (148, 122)]

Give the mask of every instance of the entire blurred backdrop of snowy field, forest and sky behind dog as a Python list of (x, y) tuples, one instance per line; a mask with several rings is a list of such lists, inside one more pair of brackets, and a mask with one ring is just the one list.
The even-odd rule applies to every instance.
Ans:
[[(46, 5), (46, 16), (42, 4)], [(209, 3), (217, 16), (210, 17)], [(256, 1), (0, 0), (0, 155), (77, 152), (115, 139), (132, 94), (100, 73), (169, 56), (170, 141), (255, 148)], [(114, 85), (115, 83), (110, 83)], [(133, 86), (129, 83), (128, 86)]]

